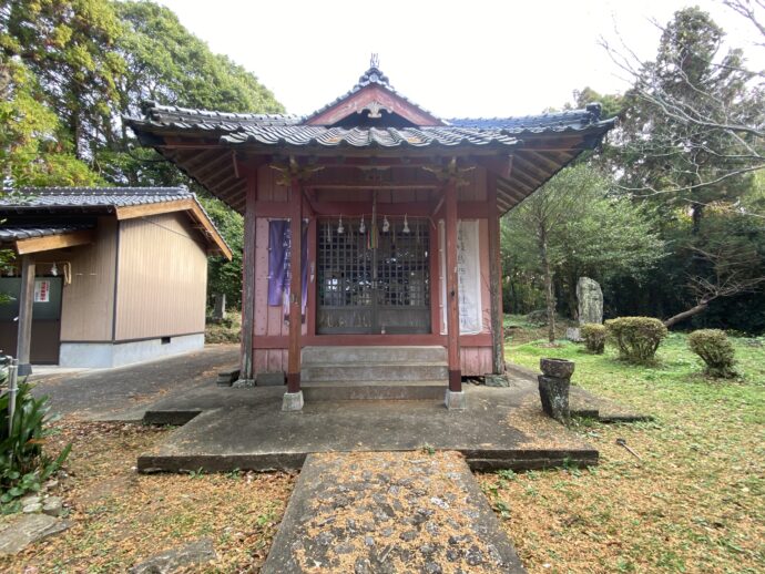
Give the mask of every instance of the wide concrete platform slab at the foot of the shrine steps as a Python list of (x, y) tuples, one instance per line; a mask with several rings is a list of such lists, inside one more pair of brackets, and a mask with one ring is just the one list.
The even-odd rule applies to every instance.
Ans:
[[(467, 409), (440, 401), (306, 401), (283, 412), (278, 388), (190, 391), (153, 406), (146, 422), (185, 423), (139, 458), (141, 472), (297, 470), (317, 452), (458, 451), (475, 470), (596, 464), (598, 451), (541, 414), (513, 422), (528, 388), (467, 387)], [(541, 413), (536, 399), (536, 411)], [(541, 427), (541, 430), (540, 430)], [(545, 440), (539, 440), (543, 434)], [(554, 440), (551, 440), (550, 438)]]

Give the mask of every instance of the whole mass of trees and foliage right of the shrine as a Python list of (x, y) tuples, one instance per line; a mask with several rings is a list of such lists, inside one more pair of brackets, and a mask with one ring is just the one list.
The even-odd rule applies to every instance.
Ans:
[[(705, 12), (680, 10), (655, 59), (624, 64), (634, 80), (624, 95), (574, 93), (567, 107), (600, 101), (603, 116), (620, 122), (601, 150), (538, 194), (561, 195), (554, 188), (563, 187), (581, 197), (555, 199), (565, 215), (548, 217), (557, 312), (575, 318), (574, 286), (585, 275), (601, 284), (606, 317), (765, 331), (765, 81), (746, 69), (740, 50), (723, 49), (724, 37)], [(572, 182), (575, 170), (582, 172)], [(584, 177), (585, 170), (600, 181)], [(603, 199), (593, 203), (583, 188), (601, 189)], [(533, 204), (532, 197), (504, 222), (511, 312), (545, 305), (545, 257), (528, 225)]]

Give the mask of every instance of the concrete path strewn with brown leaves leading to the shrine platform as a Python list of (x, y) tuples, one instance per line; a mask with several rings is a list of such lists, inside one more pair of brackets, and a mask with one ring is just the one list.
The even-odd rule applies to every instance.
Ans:
[(524, 572), (463, 458), (310, 454), (264, 574)]

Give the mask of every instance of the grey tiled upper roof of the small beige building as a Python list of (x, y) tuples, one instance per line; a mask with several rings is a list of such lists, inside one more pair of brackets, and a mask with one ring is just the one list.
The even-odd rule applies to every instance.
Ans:
[(0, 209), (125, 207), (195, 197), (185, 187), (22, 187), (0, 193)]

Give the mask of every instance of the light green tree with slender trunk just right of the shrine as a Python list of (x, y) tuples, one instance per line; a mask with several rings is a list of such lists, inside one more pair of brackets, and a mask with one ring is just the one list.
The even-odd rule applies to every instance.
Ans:
[(541, 277), (550, 342), (557, 276), (573, 293), (581, 275), (599, 280), (640, 276), (663, 255), (645, 211), (611, 196), (611, 185), (606, 175), (581, 163), (560, 172), (504, 218), (506, 274)]

